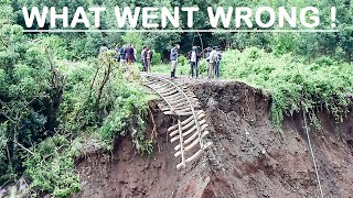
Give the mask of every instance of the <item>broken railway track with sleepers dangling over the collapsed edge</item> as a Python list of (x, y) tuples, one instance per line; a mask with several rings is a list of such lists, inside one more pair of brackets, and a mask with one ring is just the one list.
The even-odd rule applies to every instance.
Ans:
[(176, 168), (186, 167), (212, 145), (205, 142), (210, 133), (205, 112), (200, 110), (200, 103), (193, 92), (176, 82), (153, 75), (145, 74), (145, 86), (157, 92), (162, 99), (159, 102), (164, 114), (175, 118), (176, 123), (168, 129), (171, 142), (178, 142), (174, 147), (175, 157), (180, 157)]

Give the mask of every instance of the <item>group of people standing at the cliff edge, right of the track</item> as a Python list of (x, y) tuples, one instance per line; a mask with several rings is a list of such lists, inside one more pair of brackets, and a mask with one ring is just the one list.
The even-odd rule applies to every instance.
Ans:
[[(221, 48), (215, 46), (213, 48), (207, 47), (203, 52), (199, 52), (197, 46), (193, 46), (192, 50), (188, 53), (188, 59), (190, 63), (190, 73), (192, 78), (199, 78), (199, 66), (202, 55), (205, 53), (206, 63), (207, 63), (207, 77), (215, 78), (220, 77), (220, 68), (222, 61), (222, 52)], [(178, 65), (178, 51), (180, 50), (180, 45), (175, 45), (172, 47), (170, 52), (170, 61), (172, 64), (171, 69), (171, 78), (175, 78), (176, 65)]]

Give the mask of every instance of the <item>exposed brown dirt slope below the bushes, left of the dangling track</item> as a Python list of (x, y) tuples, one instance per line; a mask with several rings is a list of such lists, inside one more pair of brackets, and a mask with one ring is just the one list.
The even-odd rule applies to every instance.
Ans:
[(153, 122), (158, 133), (153, 156), (137, 154), (129, 136), (117, 140), (113, 154), (93, 154), (78, 163), (83, 190), (75, 197), (200, 197), (197, 194), (203, 190), (189, 191), (188, 184), (197, 182), (195, 188), (203, 189), (208, 185), (208, 177), (194, 165), (176, 170), (179, 160), (173, 156), (175, 145), (167, 135), (167, 129), (174, 121), (164, 117), (156, 103), (150, 107), (153, 120), (149, 119), (147, 133), (152, 134)]

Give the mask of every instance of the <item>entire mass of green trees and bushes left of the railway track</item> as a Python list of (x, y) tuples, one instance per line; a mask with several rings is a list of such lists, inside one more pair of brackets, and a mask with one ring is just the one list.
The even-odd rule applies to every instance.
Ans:
[(137, 152), (151, 154), (152, 96), (125, 79), (114, 52), (73, 63), (53, 58), (55, 36), (31, 42), (12, 24), (0, 36), (1, 184), (24, 174), (32, 196), (68, 197), (81, 188), (74, 162), (92, 139), (111, 151), (115, 135), (131, 135)]

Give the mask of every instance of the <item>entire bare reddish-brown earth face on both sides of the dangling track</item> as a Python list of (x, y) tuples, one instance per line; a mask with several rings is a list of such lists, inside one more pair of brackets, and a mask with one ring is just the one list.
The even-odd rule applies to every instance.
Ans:
[[(157, 127), (151, 157), (132, 150), (130, 139), (116, 141), (113, 154), (78, 162), (83, 190), (75, 197), (318, 197), (301, 116), (286, 118), (281, 132), (271, 127), (270, 101), (260, 91), (231, 81), (193, 81), (189, 87), (206, 112), (212, 146), (186, 169), (175, 168), (174, 144), (167, 129), (174, 122), (151, 105)], [(322, 113), (323, 130), (311, 142), (325, 197), (353, 198), (353, 113), (335, 123)], [(153, 131), (149, 119), (147, 132)]]

